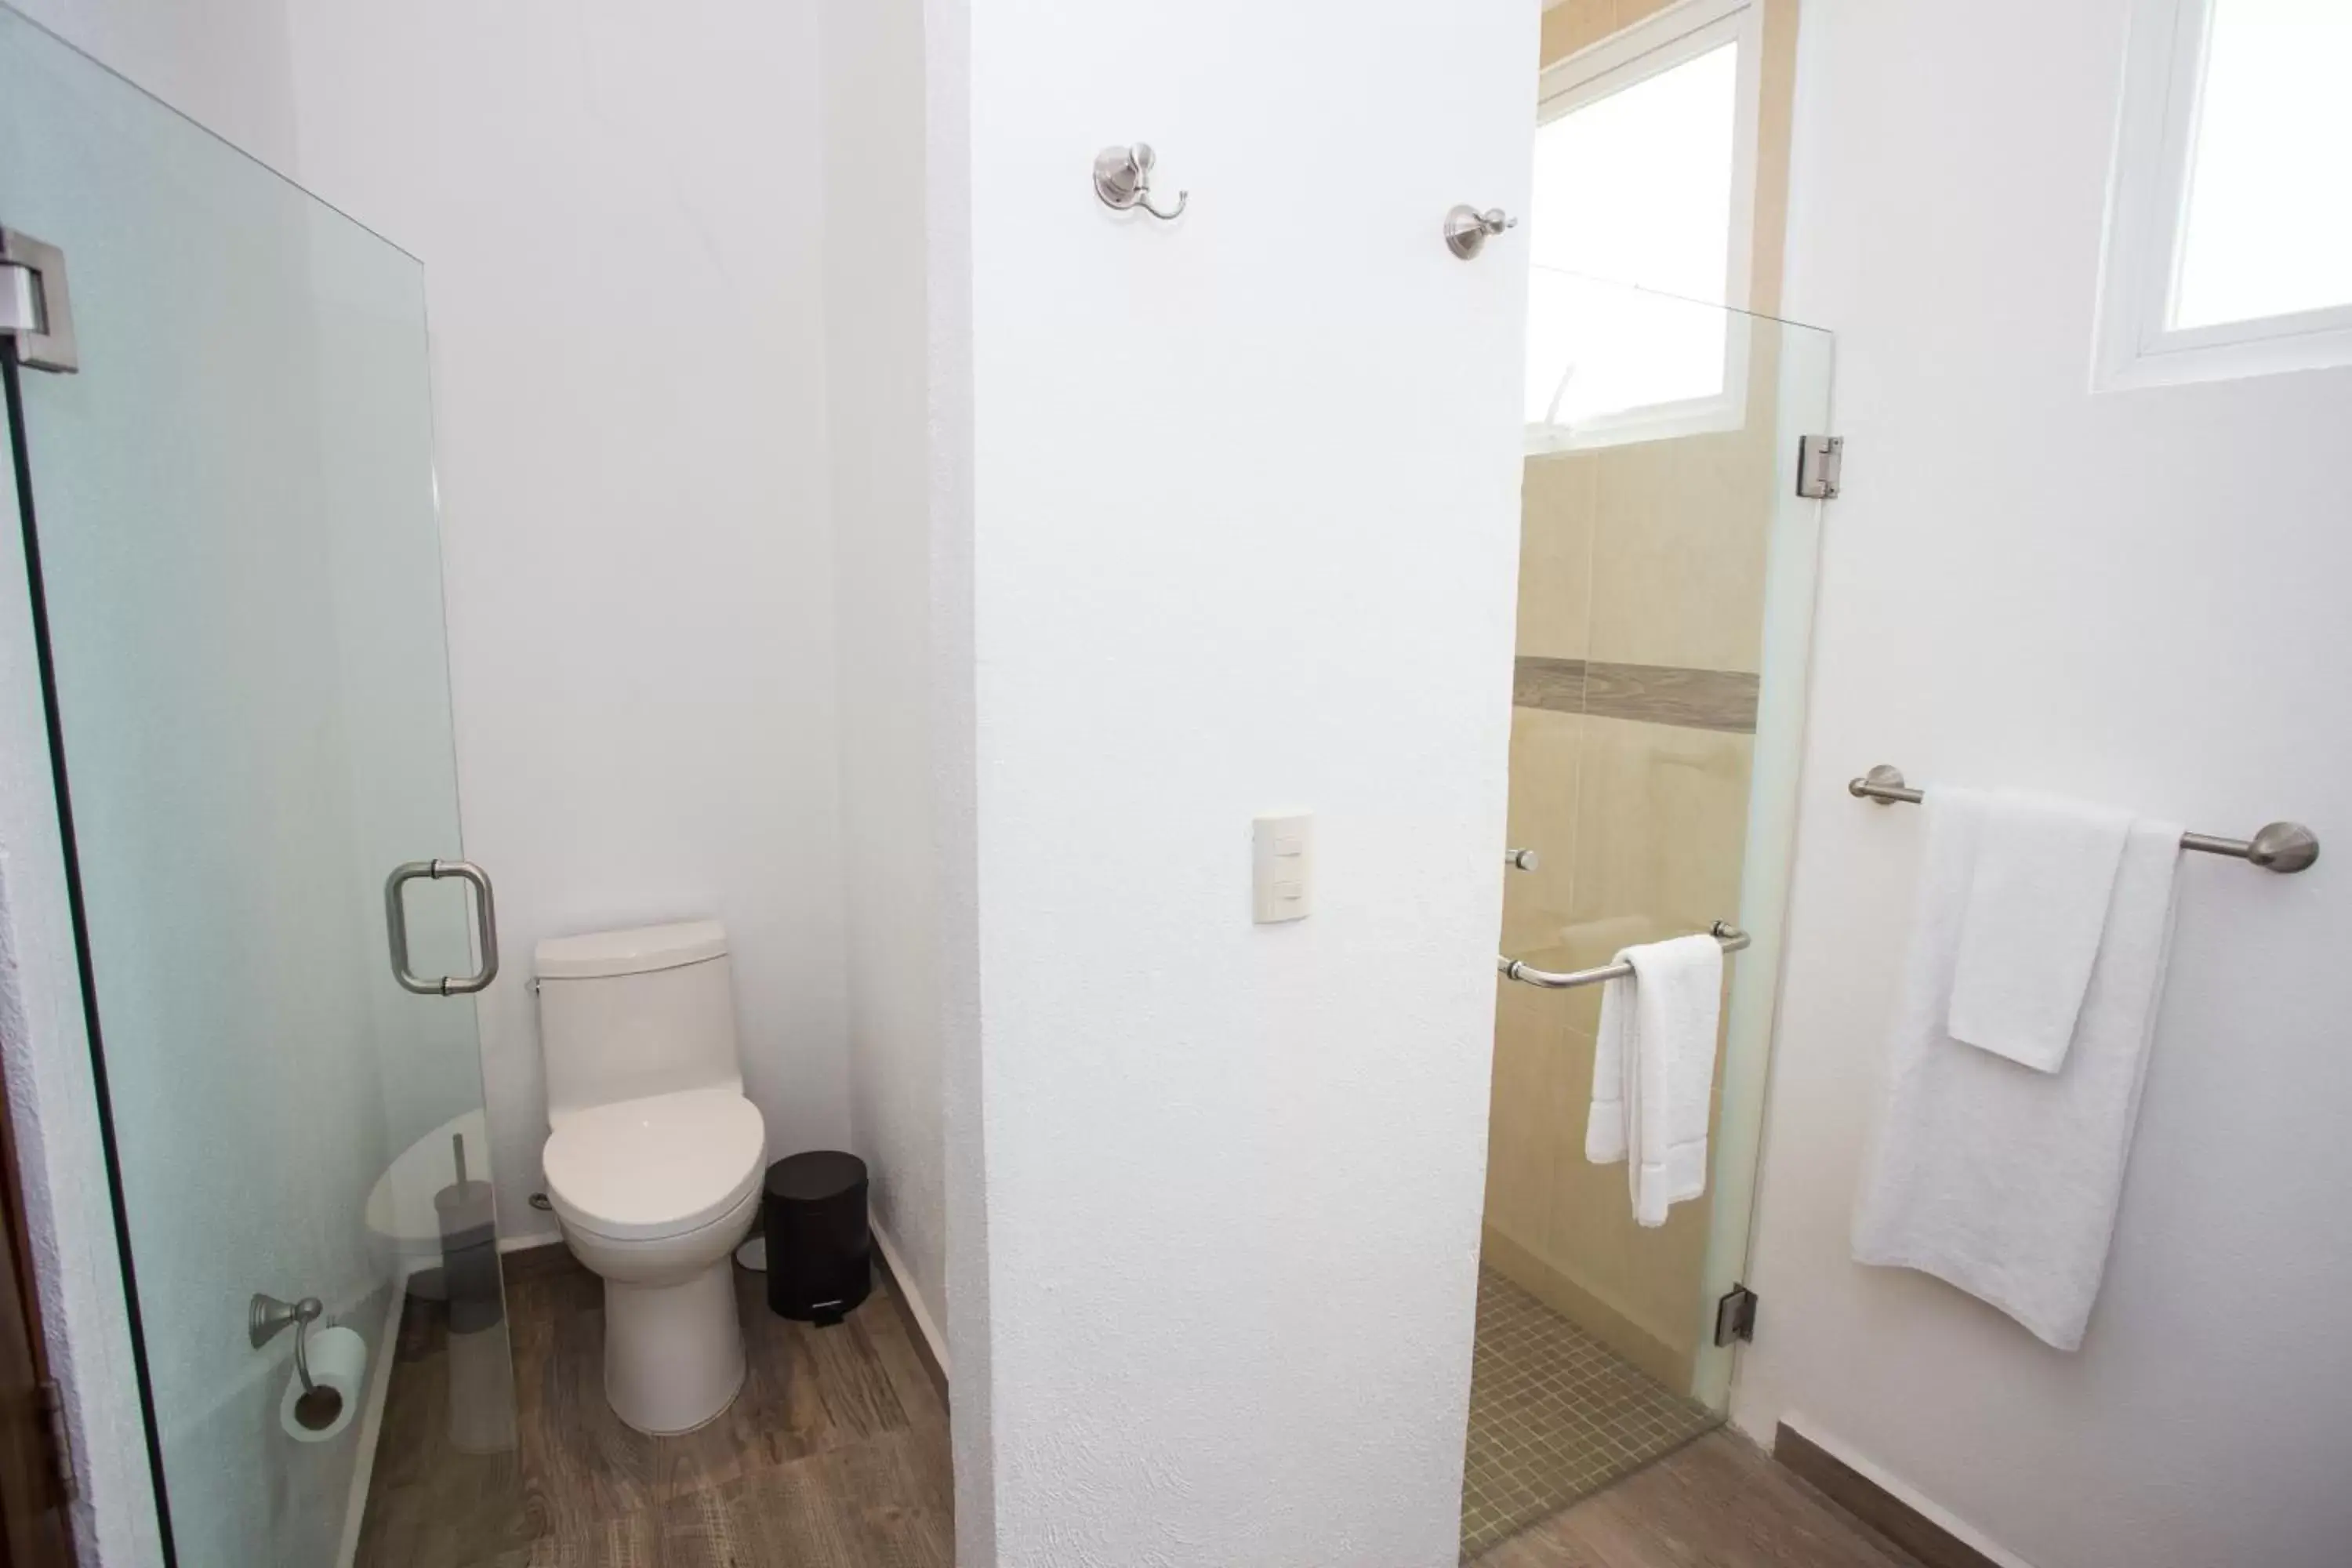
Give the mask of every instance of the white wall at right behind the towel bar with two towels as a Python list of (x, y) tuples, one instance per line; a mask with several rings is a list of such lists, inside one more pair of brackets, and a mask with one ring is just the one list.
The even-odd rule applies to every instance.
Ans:
[(2126, 9), (1806, 0), (1788, 313), (1839, 334), (1849, 444), (1736, 1415), (2039, 1568), (2317, 1568), (2352, 1540), (2343, 858), (2187, 858), (2079, 1354), (1846, 1255), (1919, 849), (1846, 776), (2352, 849), (2352, 374), (2086, 393)]

